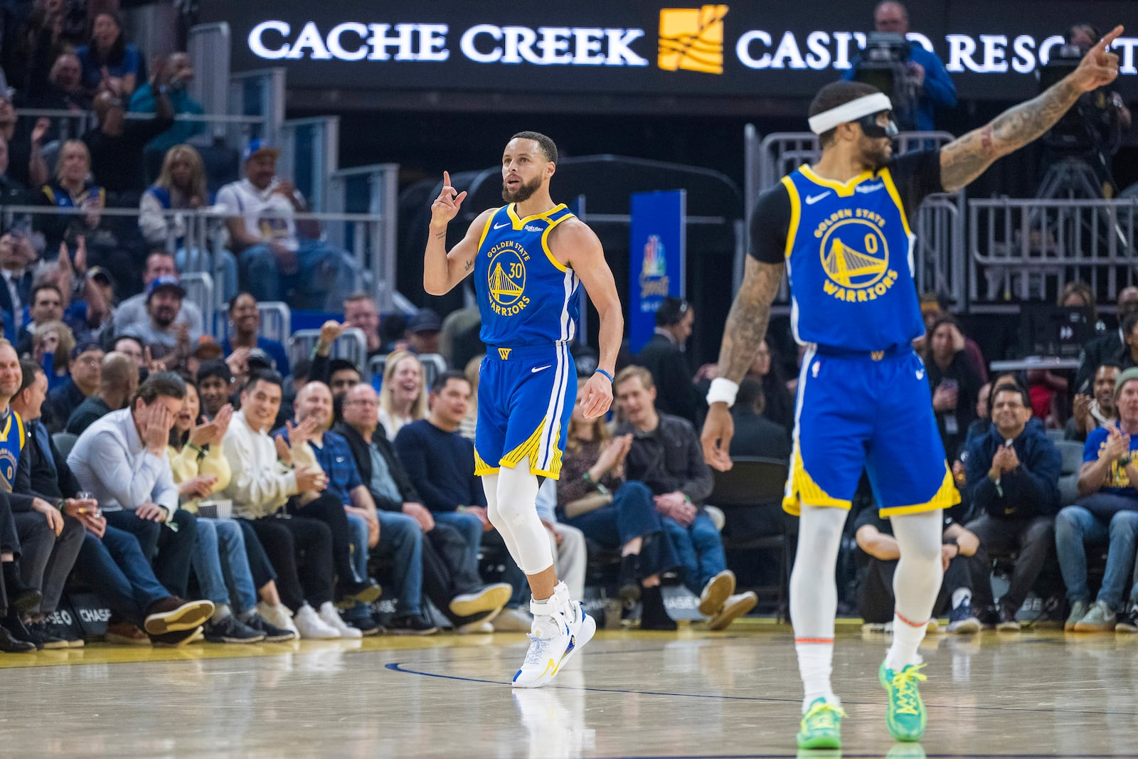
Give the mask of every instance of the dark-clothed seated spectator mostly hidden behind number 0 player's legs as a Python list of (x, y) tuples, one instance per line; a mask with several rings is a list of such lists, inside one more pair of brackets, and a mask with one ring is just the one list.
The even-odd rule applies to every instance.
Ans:
[[(858, 613), (871, 628), (885, 629), (893, 622), (893, 572), (901, 556), (893, 537), (893, 525), (879, 514), (877, 509), (863, 509), (853, 525), (853, 537), (858, 552)], [(970, 556), (980, 550), (975, 535), (957, 523), (945, 527), (941, 545), (941, 564), (945, 578), (932, 609), (930, 629), (935, 627), (935, 618), (948, 611), (949, 633), (968, 634), (980, 632), (980, 620), (972, 613), (972, 577), (968, 572)], [(975, 563), (987, 566), (981, 558)], [(979, 581), (989, 581), (984, 575)]]

